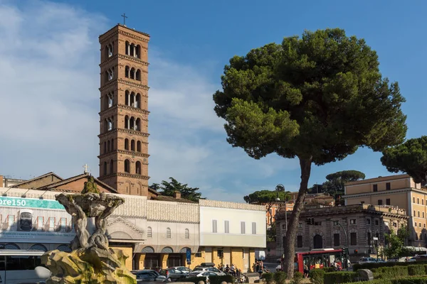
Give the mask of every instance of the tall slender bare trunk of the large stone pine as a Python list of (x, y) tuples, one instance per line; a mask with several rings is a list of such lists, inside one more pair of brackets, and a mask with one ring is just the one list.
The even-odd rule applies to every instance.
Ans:
[(300, 219), (300, 212), (304, 207), (304, 197), (307, 192), (308, 180), (310, 178), (310, 171), (312, 165), (312, 157), (300, 158), (301, 168), (301, 182), (300, 190), (298, 192), (297, 200), (295, 201), (290, 220), (288, 222), (288, 231), (286, 232), (285, 240), (283, 244), (285, 254), (285, 268), (288, 273), (288, 279), (293, 278), (294, 273), (294, 258), (295, 258), (295, 240), (297, 239), (297, 225)]

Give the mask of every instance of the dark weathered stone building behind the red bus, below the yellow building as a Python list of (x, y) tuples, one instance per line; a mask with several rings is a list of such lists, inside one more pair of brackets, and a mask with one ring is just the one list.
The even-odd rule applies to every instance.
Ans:
[[(288, 214), (288, 220), (290, 215)], [(307, 224), (307, 219), (313, 219), (314, 224)], [(407, 219), (406, 211), (396, 207), (369, 204), (305, 206), (300, 214), (295, 251), (342, 249), (348, 244), (350, 255), (366, 255), (374, 252), (374, 237), (379, 239), (380, 246), (384, 246), (386, 243), (384, 234), (406, 226)], [(283, 253), (283, 238), (286, 234), (286, 219), (283, 212), (278, 213), (276, 222), (278, 222), (278, 250), (281, 249)], [(345, 233), (336, 222), (344, 227)]]

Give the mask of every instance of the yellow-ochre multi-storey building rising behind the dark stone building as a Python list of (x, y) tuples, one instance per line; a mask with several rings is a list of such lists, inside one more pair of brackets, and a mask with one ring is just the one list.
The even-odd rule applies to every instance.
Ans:
[(427, 189), (421, 188), (409, 175), (390, 175), (348, 182), (344, 194), (346, 205), (362, 203), (405, 209), (411, 232), (409, 245), (426, 245)]

